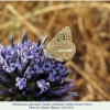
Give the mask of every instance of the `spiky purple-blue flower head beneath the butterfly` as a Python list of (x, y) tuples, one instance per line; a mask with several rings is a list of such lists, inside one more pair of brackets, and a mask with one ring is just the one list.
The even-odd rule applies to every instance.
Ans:
[(46, 38), (32, 43), (24, 32), (22, 43), (15, 44), (11, 36), (11, 45), (0, 45), (1, 101), (56, 101), (75, 95), (65, 63), (44, 55)]

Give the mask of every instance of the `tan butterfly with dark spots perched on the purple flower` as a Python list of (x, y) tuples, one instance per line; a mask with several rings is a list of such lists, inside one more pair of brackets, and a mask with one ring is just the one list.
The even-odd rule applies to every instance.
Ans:
[(76, 46), (72, 42), (72, 32), (69, 26), (62, 29), (44, 48), (45, 56), (59, 62), (72, 59), (75, 53)]

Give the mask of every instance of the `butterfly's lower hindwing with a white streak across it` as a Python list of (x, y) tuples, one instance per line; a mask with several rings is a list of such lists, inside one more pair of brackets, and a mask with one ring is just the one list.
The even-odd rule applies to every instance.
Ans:
[(75, 55), (76, 46), (70, 41), (67, 41), (50, 45), (47, 46), (47, 51), (57, 61), (68, 61)]

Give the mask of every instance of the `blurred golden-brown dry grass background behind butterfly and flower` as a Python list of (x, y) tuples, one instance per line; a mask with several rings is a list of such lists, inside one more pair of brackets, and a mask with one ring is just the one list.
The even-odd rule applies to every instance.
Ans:
[(79, 94), (76, 101), (110, 100), (110, 2), (13, 1), (0, 2), (0, 43), (21, 42), (24, 31), (37, 42), (48, 42), (69, 26), (76, 54), (68, 66)]

